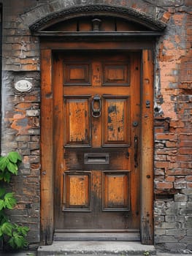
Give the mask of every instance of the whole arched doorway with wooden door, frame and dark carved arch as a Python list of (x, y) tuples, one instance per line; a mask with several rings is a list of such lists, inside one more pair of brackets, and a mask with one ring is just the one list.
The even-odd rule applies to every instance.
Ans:
[(99, 5), (31, 26), (42, 54), (43, 244), (72, 231), (153, 243), (152, 51), (164, 26), (144, 16)]

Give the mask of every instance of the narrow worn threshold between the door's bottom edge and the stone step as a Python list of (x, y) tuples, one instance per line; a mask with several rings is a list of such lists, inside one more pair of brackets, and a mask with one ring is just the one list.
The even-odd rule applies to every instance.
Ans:
[(54, 241), (140, 241), (139, 232), (55, 232)]

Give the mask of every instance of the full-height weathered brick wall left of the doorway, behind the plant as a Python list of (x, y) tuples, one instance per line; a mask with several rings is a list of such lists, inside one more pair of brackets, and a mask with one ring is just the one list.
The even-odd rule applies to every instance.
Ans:
[[(39, 244), (39, 118), (40, 75), (39, 40), (31, 37), (20, 13), (33, 7), (32, 1), (3, 1), (2, 37), (2, 134), (1, 154), (17, 150), (23, 157), (18, 176), (11, 186), (18, 205), (11, 211), (11, 220), (30, 227), (30, 247)], [(18, 93), (18, 80), (31, 81), (28, 93)]]

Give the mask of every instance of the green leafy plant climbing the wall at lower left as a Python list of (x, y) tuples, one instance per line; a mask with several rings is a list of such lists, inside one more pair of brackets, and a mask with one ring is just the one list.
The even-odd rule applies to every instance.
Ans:
[(26, 235), (29, 228), (9, 221), (6, 210), (16, 206), (13, 192), (7, 192), (5, 184), (10, 182), (12, 175), (18, 175), (18, 164), (22, 159), (16, 151), (0, 157), (0, 241), (3, 246), (12, 249), (23, 249), (28, 246)]

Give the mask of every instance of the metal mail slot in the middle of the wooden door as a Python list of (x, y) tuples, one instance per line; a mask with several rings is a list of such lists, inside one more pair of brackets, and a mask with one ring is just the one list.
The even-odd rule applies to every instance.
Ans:
[(94, 165), (106, 165), (110, 162), (110, 154), (108, 153), (85, 153), (84, 163)]

